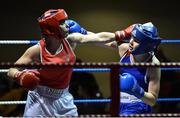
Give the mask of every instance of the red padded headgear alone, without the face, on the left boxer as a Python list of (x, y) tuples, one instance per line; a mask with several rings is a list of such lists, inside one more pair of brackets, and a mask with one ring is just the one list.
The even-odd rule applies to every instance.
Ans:
[(62, 37), (59, 22), (66, 19), (68, 19), (68, 15), (64, 9), (50, 9), (46, 11), (38, 18), (42, 34)]

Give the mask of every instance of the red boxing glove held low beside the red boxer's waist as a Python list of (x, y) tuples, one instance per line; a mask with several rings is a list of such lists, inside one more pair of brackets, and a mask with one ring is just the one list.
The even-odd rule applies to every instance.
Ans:
[(22, 87), (28, 90), (34, 90), (40, 82), (40, 78), (37, 77), (38, 74), (39, 73), (36, 71), (24, 70), (21, 72), (17, 72), (15, 74), (15, 78)]

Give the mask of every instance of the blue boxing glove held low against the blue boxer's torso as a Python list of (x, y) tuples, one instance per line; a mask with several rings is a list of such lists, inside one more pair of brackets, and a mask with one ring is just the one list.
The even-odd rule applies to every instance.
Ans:
[(144, 89), (139, 86), (136, 78), (129, 74), (123, 73), (120, 78), (120, 91), (127, 92), (137, 98), (142, 98), (144, 96)]

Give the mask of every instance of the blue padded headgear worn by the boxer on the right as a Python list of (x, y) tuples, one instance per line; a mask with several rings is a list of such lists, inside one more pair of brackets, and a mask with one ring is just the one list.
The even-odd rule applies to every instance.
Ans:
[(139, 42), (139, 46), (132, 51), (134, 55), (153, 52), (161, 43), (157, 28), (151, 22), (136, 24), (132, 36)]

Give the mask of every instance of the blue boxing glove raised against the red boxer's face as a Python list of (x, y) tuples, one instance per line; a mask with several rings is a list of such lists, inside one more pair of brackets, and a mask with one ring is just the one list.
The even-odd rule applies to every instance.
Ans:
[(87, 31), (82, 28), (77, 22), (73, 20), (66, 20), (65, 23), (69, 26), (69, 33), (81, 33), (81, 34), (87, 34)]

